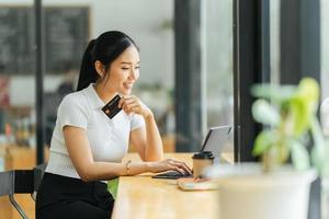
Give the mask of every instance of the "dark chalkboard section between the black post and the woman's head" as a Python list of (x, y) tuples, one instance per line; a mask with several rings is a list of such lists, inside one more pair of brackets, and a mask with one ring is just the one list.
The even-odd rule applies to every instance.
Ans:
[(46, 71), (63, 72), (67, 64), (79, 68), (89, 38), (87, 8), (46, 8)]

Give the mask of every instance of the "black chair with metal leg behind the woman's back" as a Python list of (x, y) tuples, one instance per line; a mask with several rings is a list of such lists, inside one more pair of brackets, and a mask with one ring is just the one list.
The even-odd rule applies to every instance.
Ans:
[(32, 198), (35, 200), (45, 168), (46, 163), (37, 165), (33, 170), (0, 172), (0, 196), (8, 195), (9, 200), (23, 219), (27, 219), (27, 216), (14, 199), (14, 194), (31, 194)]

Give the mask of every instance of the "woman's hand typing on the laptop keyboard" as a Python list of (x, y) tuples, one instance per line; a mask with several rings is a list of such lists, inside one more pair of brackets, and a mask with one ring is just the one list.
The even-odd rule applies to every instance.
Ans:
[(150, 171), (154, 173), (170, 171), (170, 170), (178, 171), (182, 174), (186, 174), (186, 173), (192, 174), (192, 171), (186, 165), (186, 163), (175, 160), (173, 158), (150, 162)]

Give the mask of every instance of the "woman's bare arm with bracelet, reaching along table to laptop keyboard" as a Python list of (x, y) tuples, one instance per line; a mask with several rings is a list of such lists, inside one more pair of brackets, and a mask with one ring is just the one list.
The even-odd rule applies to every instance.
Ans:
[[(127, 175), (126, 163), (95, 162), (93, 160), (86, 130), (65, 126), (63, 132), (69, 157), (82, 181), (106, 181), (115, 176)], [(167, 170), (190, 172), (183, 162), (167, 159), (160, 162), (131, 163), (129, 175)]]

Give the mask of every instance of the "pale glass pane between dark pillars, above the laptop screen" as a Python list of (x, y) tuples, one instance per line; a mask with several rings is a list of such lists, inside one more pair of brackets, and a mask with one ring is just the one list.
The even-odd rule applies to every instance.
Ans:
[(232, 125), (232, 0), (204, 3), (207, 127)]

